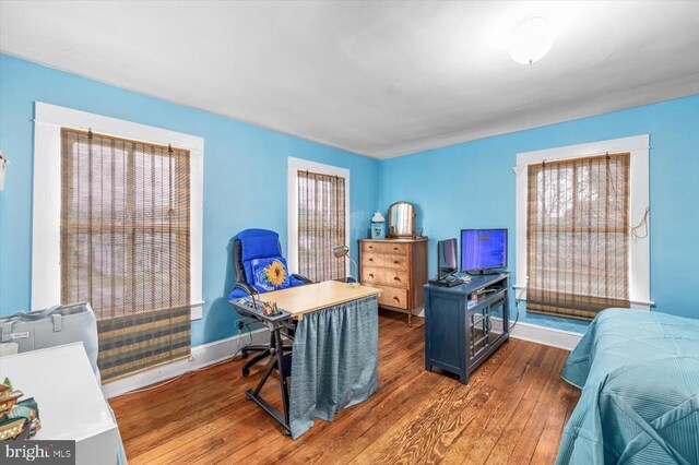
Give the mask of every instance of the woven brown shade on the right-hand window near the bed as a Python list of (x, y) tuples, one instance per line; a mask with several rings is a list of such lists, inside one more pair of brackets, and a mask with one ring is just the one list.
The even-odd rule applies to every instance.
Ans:
[(529, 166), (526, 311), (629, 307), (629, 154)]

